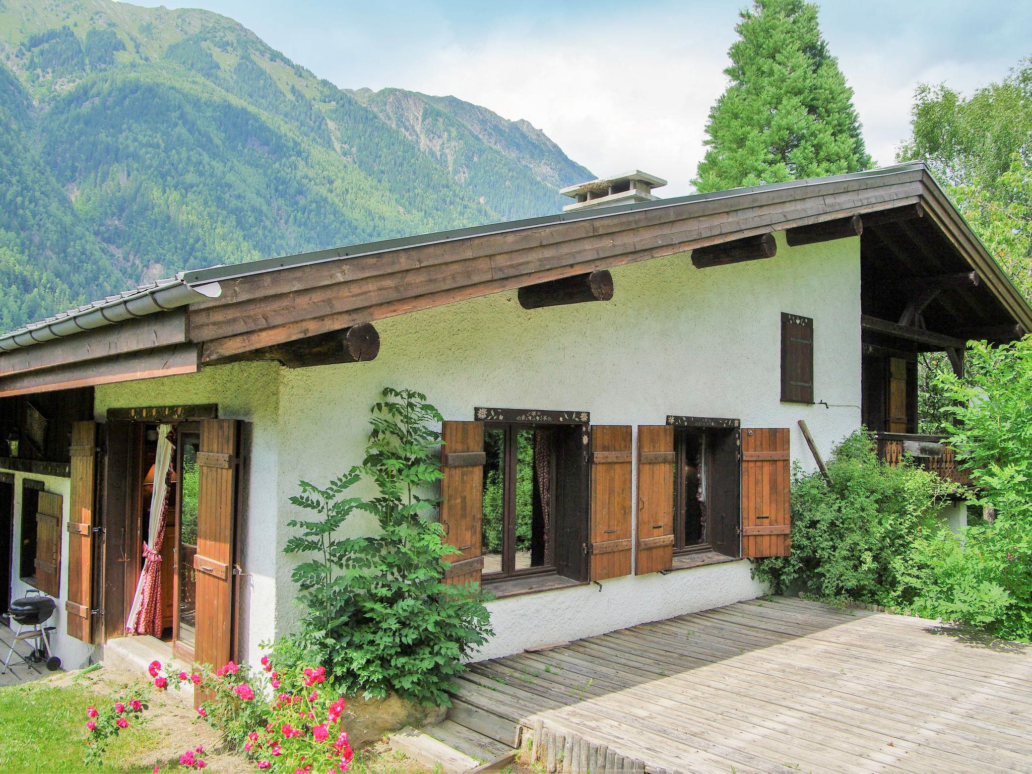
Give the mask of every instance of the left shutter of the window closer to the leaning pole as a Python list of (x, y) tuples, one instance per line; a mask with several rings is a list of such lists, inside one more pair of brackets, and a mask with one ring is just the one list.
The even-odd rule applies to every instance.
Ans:
[(674, 565), (674, 427), (638, 426), (638, 556), (635, 575)]

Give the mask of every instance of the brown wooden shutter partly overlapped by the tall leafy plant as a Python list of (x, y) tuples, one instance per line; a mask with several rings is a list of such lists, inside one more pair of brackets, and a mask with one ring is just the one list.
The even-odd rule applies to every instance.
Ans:
[(442, 425), (441, 524), (445, 541), (458, 549), (445, 558), (445, 583), (480, 582), (484, 557), (480, 553), (484, 512), (484, 423), (447, 421)]

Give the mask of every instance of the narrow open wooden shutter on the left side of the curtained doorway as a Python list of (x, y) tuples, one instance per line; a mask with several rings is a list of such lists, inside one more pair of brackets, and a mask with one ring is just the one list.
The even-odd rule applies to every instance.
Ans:
[(97, 423), (71, 426), (71, 497), (68, 503), (68, 595), (65, 600), (69, 637), (93, 639), (93, 524), (97, 473)]

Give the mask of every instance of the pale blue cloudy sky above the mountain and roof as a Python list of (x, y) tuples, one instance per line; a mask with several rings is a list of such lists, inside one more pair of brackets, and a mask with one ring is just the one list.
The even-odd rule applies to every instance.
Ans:
[[(164, 4), (232, 17), (341, 87), (454, 94), (526, 119), (596, 174), (638, 167), (669, 180), (659, 193), (675, 196), (691, 190), (745, 0)], [(906, 136), (918, 83), (969, 91), (1032, 55), (1025, 0), (819, 4), (879, 164), (893, 162)]]

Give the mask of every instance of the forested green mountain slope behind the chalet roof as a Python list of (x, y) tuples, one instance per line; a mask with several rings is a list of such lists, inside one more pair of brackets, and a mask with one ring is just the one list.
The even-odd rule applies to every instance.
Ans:
[(557, 212), (526, 122), (343, 90), (231, 19), (0, 0), (0, 326), (183, 268)]

